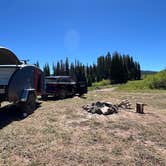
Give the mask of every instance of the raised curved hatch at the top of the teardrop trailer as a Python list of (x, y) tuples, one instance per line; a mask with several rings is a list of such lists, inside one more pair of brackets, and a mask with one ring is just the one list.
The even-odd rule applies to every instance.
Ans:
[(0, 65), (20, 65), (17, 56), (7, 48), (0, 47)]

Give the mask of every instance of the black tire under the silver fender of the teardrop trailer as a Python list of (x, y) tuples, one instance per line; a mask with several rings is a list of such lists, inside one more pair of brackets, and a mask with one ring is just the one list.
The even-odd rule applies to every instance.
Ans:
[(20, 103), (20, 108), (23, 113), (28, 115), (32, 114), (36, 109), (36, 95), (34, 93), (30, 93), (27, 101)]

